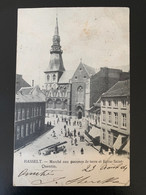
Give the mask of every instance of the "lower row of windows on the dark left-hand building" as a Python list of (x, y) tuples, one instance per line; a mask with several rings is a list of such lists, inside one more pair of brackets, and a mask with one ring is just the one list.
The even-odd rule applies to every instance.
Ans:
[(31, 123), (26, 123), (26, 125), (17, 125), (16, 127), (16, 139), (19, 140), (21, 138), (27, 137), (30, 134), (35, 133), (36, 128), (41, 127), (41, 120), (36, 120)]

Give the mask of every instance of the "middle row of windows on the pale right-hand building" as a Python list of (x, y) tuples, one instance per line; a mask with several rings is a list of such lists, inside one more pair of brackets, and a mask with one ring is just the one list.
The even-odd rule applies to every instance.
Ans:
[[(113, 123), (115, 124), (115, 125), (118, 125), (118, 113), (117, 112), (114, 112), (113, 113), (114, 114), (114, 121), (113, 121)], [(103, 122), (108, 122), (108, 123), (112, 123), (112, 113), (111, 112), (108, 112), (108, 118), (107, 118), (107, 121), (106, 121), (106, 112), (105, 111), (102, 111), (102, 115), (103, 115), (103, 117), (102, 117), (102, 121)], [(122, 127), (126, 127), (127, 126), (127, 116), (126, 116), (126, 114), (125, 113), (122, 113), (121, 114), (121, 126)]]

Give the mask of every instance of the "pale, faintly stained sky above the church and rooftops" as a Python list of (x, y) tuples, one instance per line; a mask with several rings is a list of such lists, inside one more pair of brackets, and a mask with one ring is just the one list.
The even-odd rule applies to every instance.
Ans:
[(16, 73), (41, 88), (49, 65), (58, 15), (66, 70), (80, 61), (129, 71), (129, 8), (23, 8), (18, 9)]

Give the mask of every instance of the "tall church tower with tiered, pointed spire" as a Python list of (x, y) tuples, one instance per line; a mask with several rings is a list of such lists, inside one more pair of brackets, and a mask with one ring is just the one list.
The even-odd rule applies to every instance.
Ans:
[(46, 74), (45, 75), (46, 90), (49, 90), (52, 87), (56, 88), (61, 75), (65, 71), (62, 60), (62, 53), (63, 51), (61, 50), (60, 46), (58, 18), (56, 17), (56, 27), (53, 36), (53, 45), (51, 46), (50, 50), (50, 62), (47, 70), (44, 72)]

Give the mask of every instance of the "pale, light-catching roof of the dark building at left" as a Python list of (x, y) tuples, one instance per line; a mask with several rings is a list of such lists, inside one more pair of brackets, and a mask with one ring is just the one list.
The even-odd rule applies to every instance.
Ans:
[(42, 93), (39, 86), (23, 87), (15, 97), (16, 103), (45, 102), (46, 96)]

